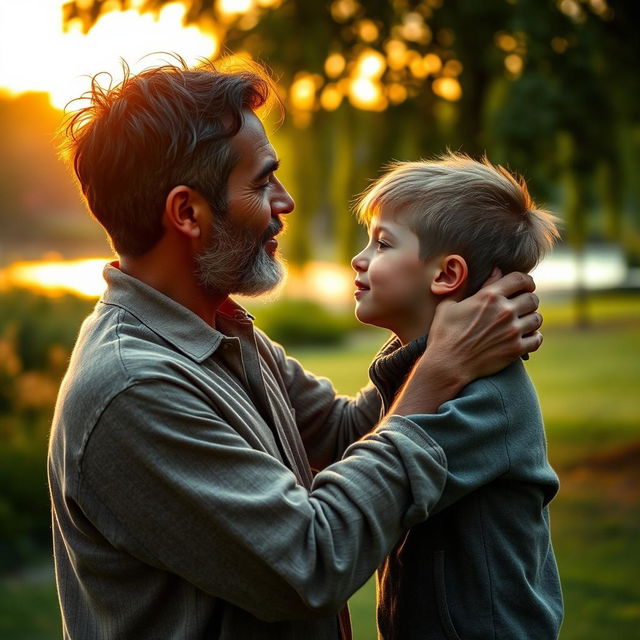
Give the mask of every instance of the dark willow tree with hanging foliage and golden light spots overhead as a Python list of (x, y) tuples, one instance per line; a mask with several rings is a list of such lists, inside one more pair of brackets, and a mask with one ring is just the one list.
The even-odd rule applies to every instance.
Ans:
[[(186, 4), (189, 20), (274, 69), (290, 112), (282, 135), (302, 159), (296, 262), (312, 254), (308, 238), (326, 214), (344, 259), (358, 238), (349, 198), (385, 161), (445, 146), (488, 151), (545, 199), (561, 201), (558, 189), (573, 185), (584, 206), (566, 216), (574, 245), (594, 233), (621, 240), (623, 206), (638, 204), (635, 0), (247, 0), (236, 13), (222, 0)], [(67, 18), (88, 28), (105, 6), (69, 2)], [(575, 152), (565, 153), (569, 139)], [(606, 214), (593, 219), (598, 200)]]

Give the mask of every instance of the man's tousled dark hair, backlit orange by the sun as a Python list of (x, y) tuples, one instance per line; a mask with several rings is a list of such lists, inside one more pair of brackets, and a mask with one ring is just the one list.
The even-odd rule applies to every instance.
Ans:
[(166, 197), (177, 185), (197, 190), (223, 215), (227, 180), (238, 159), (231, 138), (243, 112), (275, 96), (256, 64), (223, 71), (213, 63), (190, 69), (175, 56), (166, 64), (130, 73), (115, 86), (80, 98), (88, 106), (66, 121), (64, 151), (73, 162), (92, 214), (122, 255), (149, 251), (163, 233)]

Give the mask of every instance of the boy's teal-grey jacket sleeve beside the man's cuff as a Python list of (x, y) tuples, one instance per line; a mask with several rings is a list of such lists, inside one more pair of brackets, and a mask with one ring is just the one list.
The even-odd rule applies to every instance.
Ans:
[(467, 385), (436, 414), (407, 417), (442, 447), (447, 458), (447, 483), (434, 512), (509, 472), (510, 421), (500, 389), (491, 380)]

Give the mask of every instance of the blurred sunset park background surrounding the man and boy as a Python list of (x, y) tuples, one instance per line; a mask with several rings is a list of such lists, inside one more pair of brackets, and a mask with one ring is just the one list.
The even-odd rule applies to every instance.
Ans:
[[(559, 215), (527, 366), (562, 482), (562, 638), (640, 638), (639, 24), (637, 0), (0, 0), (0, 636), (60, 637), (48, 429), (111, 256), (58, 157), (65, 105), (172, 52), (273, 71), (290, 274), (242, 302), (341, 392), (385, 337), (354, 320), (349, 267), (366, 237), (350, 203), (385, 163), (486, 153)], [(351, 601), (357, 639), (374, 598), (370, 582)]]

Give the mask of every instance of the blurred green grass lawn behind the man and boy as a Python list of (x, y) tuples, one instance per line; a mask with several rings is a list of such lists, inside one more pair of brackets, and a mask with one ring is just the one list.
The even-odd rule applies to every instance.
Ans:
[[(543, 304), (544, 347), (527, 368), (545, 415), (561, 479), (552, 526), (566, 606), (562, 640), (640, 638), (640, 296), (591, 302), (593, 325), (572, 326), (564, 302)], [(367, 379), (384, 333), (294, 355), (343, 393)], [(356, 640), (375, 638), (375, 594), (351, 599)], [(48, 574), (0, 580), (0, 638), (60, 637)]]

